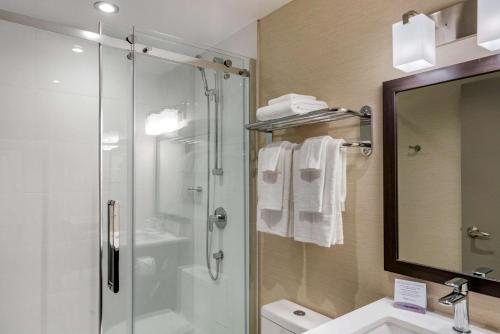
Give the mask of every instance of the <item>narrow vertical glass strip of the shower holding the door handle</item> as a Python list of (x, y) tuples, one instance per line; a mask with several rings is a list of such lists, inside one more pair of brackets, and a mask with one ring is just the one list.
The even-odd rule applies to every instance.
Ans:
[[(129, 51), (102, 47), (102, 298), (104, 334), (132, 331), (132, 144), (133, 63)], [(118, 293), (108, 286), (108, 202), (116, 201), (119, 222)], [(115, 236), (118, 236), (115, 234)], [(112, 252), (113, 253), (113, 252)]]

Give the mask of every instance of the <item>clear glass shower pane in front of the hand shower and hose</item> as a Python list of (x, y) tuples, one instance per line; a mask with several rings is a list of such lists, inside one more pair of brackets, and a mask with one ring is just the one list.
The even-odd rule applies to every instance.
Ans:
[(135, 62), (135, 333), (246, 333), (247, 79)]

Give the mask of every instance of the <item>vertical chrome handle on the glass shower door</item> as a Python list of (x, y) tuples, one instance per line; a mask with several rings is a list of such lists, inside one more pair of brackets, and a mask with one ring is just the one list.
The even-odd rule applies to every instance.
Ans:
[(108, 287), (120, 290), (120, 203), (108, 201)]

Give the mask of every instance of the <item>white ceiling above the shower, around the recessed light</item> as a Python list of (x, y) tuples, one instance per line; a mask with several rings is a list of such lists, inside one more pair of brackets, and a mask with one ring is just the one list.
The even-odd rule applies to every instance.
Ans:
[(97, 12), (94, 0), (0, 0), (0, 8), (24, 15), (97, 30), (103, 21), (120, 31), (141, 29), (216, 45), (290, 0), (112, 0), (118, 15)]

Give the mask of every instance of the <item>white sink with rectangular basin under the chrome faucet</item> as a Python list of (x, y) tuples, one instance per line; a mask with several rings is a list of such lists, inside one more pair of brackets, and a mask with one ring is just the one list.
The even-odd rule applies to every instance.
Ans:
[[(452, 327), (449, 317), (397, 309), (391, 299), (383, 298), (305, 334), (457, 334)], [(471, 330), (472, 334), (497, 333), (474, 325)]]

